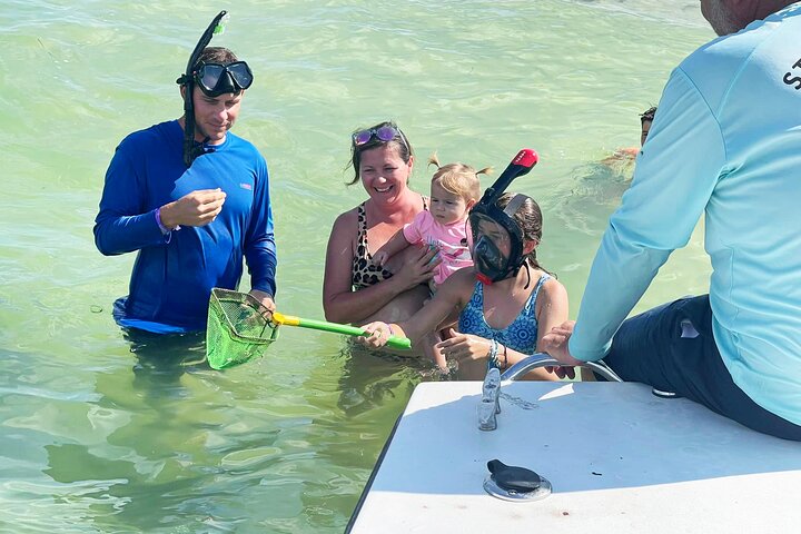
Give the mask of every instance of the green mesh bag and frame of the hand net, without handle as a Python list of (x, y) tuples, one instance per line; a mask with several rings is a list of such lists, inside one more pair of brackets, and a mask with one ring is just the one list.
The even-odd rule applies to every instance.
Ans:
[(244, 364), (261, 356), (278, 330), (269, 322), (269, 310), (248, 293), (211, 289), (206, 359), (212, 369)]

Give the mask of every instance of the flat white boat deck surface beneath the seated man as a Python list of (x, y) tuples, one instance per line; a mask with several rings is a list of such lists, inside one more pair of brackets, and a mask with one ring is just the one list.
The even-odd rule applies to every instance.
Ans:
[[(482, 432), (481, 388), (417, 386), (350, 532), (801, 532), (801, 443), (629, 383), (504, 383), (498, 427)], [(553, 494), (490, 496), (493, 458)]]

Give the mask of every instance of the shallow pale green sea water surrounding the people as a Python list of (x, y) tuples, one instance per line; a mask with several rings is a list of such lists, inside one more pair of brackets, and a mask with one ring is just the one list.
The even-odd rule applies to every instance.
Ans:
[[(0, 3), (0, 530), (342, 532), (421, 369), (299, 329), (224, 373), (192, 363), (197, 339), (131, 352), (110, 309), (134, 256), (101, 257), (91, 236), (103, 174), (126, 134), (180, 115), (174, 80), (219, 6), (71, 3)], [(690, 0), (230, 11), (214, 42), (255, 71), (236, 131), (270, 166), (279, 306), (306, 317), (322, 317), (330, 222), (366, 198), (344, 186), (348, 135), (386, 118), (422, 159), (540, 152), (515, 188), (543, 207), (541, 258), (575, 316), (625, 189), (596, 161), (637, 142), (637, 113), (712, 37)], [(418, 166), (413, 186), (427, 179)], [(639, 309), (708, 274), (696, 231)]]

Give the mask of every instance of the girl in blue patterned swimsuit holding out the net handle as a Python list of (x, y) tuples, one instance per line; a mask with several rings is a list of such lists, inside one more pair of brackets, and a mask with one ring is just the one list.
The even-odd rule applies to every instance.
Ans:
[[(511, 211), (504, 224), (506, 228), (516, 226), (511, 228), (516, 231), (506, 231), (491, 217), (471, 216), (475, 267), (448, 277), (408, 320), (365, 325), (370, 335), (363, 343), (379, 347), (392, 334), (416, 342), (458, 309), (458, 332), (452, 330), (452, 337), (437, 347), (458, 362), (461, 378), (481, 379), (487, 366), (503, 370), (537, 352), (542, 337), (567, 318), (567, 291), (537, 263), (542, 238), (537, 204), (525, 195), (511, 194), (494, 204), (496, 212)], [(545, 369), (534, 374), (538, 379), (556, 379)]]

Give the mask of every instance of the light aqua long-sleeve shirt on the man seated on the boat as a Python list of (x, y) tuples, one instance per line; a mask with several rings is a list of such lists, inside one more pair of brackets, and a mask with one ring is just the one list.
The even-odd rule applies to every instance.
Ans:
[(715, 343), (734, 383), (801, 424), (801, 2), (671, 75), (592, 266), (571, 354), (602, 358), (704, 215)]

